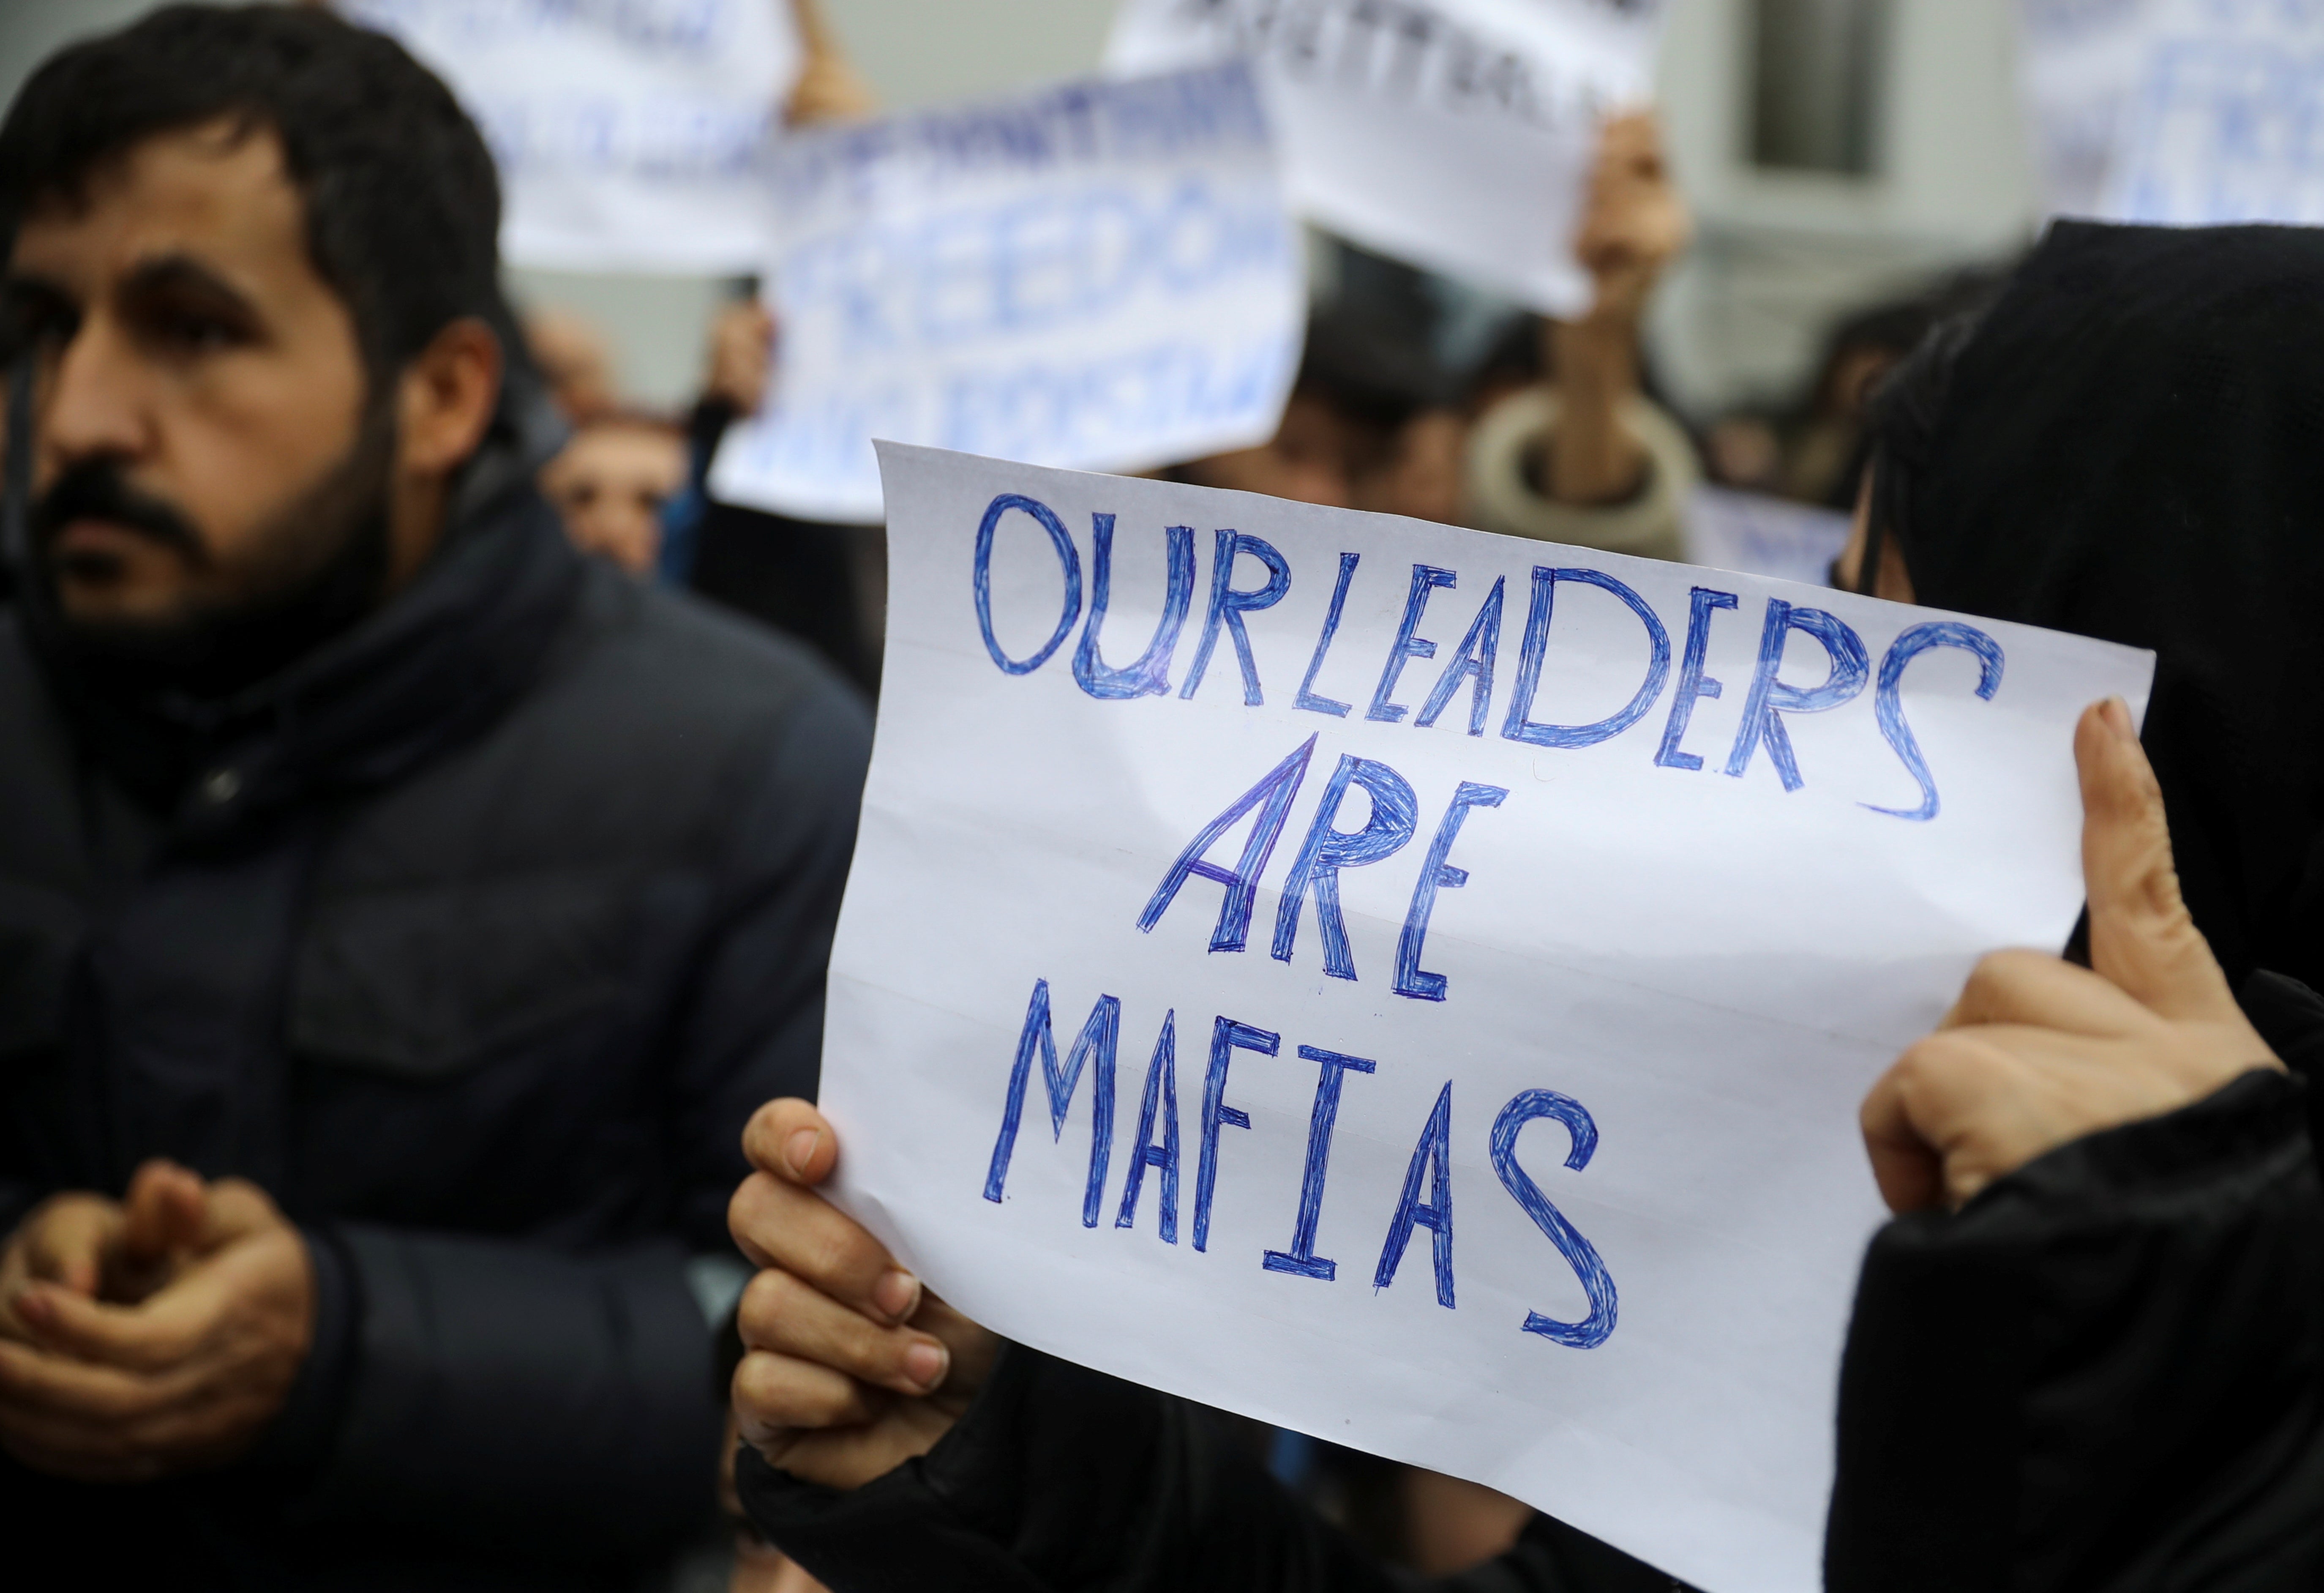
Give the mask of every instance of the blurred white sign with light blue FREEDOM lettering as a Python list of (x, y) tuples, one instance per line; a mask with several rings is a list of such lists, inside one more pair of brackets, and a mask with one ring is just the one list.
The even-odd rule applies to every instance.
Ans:
[(874, 437), (1146, 470), (1276, 430), (1304, 260), (1239, 63), (797, 135), (774, 191), (727, 502), (876, 521)]

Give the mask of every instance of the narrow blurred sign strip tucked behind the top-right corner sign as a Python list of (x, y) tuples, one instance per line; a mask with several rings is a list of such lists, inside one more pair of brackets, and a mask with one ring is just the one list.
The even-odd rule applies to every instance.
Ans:
[(2099, 216), (2154, 0), (2017, 0), (2017, 67), (2043, 205)]

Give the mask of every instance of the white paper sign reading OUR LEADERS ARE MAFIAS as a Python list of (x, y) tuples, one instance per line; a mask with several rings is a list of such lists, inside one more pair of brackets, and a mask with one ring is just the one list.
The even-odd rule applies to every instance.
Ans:
[(883, 465), (841, 1202), (1016, 1340), (1815, 1588), (1857, 1102), (1982, 951), (2066, 940), (2073, 721), (2152, 656)]

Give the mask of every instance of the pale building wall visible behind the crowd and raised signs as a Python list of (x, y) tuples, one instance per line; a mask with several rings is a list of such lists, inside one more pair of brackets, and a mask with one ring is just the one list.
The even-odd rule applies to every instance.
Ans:
[[(1657, 307), (1657, 367), (1690, 409), (1783, 393), (1843, 312), (2031, 237), (2013, 0), (1889, 0), (1880, 170), (1764, 172), (1748, 160), (1752, 0), (1671, 0), (1662, 105), (1699, 219)], [(1097, 65), (1113, 0), (825, 0), (888, 107), (1002, 93)], [(0, 95), (67, 37), (144, 0), (0, 0)], [(616, 340), (634, 402), (679, 405), (720, 281), (511, 272), (521, 302), (567, 305)]]

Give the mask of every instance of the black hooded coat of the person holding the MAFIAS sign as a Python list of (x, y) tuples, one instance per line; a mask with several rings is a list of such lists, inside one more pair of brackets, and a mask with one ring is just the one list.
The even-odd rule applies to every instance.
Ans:
[[(2319, 230), (2059, 226), (1959, 353), (1899, 526), (1917, 598), (2159, 651), (2147, 747), (2187, 895), (2294, 1074), (1880, 1233), (1841, 1379), (1831, 1593), (2324, 1586), (2324, 1091), (2301, 1084), (2324, 1002), (2298, 981), (2324, 974), (2319, 460)], [(865, 1488), (748, 1451), (739, 1486), (839, 1593), (1420, 1586), (1215, 1416), (1020, 1346)], [(1429, 1586), (1676, 1584), (1536, 1516)]]

